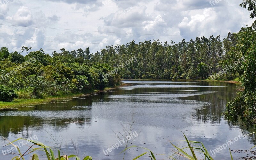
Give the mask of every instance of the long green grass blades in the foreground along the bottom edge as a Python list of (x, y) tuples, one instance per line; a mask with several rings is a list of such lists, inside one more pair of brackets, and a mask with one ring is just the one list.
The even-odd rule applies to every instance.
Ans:
[[(256, 132), (254, 132), (256, 133)], [(251, 134), (254, 134), (254, 133), (251, 133)], [(188, 140), (188, 138), (186, 137), (186, 135), (183, 133), (184, 137), (185, 137), (185, 142), (187, 142), (187, 147), (184, 147), (184, 148), (180, 148), (180, 147), (177, 147), (176, 145), (174, 145), (171, 141), (170, 143), (172, 144), (172, 146), (176, 149), (176, 151), (174, 151), (174, 153), (172, 155), (170, 155), (168, 158), (169, 159), (177, 159), (175, 158), (176, 155), (178, 156), (181, 156), (183, 157), (183, 159), (189, 159), (189, 160), (199, 160), (199, 159), (204, 159), (204, 160), (213, 160), (213, 158), (211, 157), (210, 153), (208, 152), (208, 150), (204, 147), (203, 143), (201, 142), (196, 142), (196, 141), (191, 141), (191, 140)], [(14, 140), (13, 142), (9, 142), (9, 144), (7, 145), (13, 145), (14, 147), (16, 147), (13, 143), (18, 141), (18, 140), (26, 140), (26, 139), (23, 139), (23, 138), (19, 138), (17, 140)], [(6, 139), (5, 139), (6, 140)], [(32, 160), (39, 160), (39, 157), (36, 153), (34, 153), (35, 151), (38, 151), (38, 150), (41, 150), (41, 151), (44, 151), (45, 152), (45, 157), (44, 159), (47, 159), (47, 160), (68, 160), (69, 158), (76, 158), (76, 160), (80, 160), (80, 158), (76, 155), (63, 155), (61, 156), (60, 155), (60, 150), (57, 149), (57, 148), (52, 148), (52, 147), (49, 147), (49, 146), (46, 146), (44, 145), (43, 143), (41, 142), (38, 142), (38, 141), (33, 141), (33, 140), (28, 140), (30, 142), (33, 143), (32, 146), (30, 146), (30, 148), (25, 152), (25, 153), (21, 153), (19, 148), (17, 148), (19, 154), (17, 154), (18, 156), (15, 156), (13, 158), (13, 160), (19, 160), (19, 159), (24, 159), (24, 156), (27, 156), (27, 155), (32, 155)], [(7, 146), (5, 145), (5, 146)], [(39, 147), (37, 147), (39, 146)], [(37, 148), (36, 148), (37, 147)], [(125, 152), (126, 150), (130, 149), (130, 148), (133, 148), (133, 147), (136, 147), (136, 148), (142, 148), (142, 147), (138, 147), (138, 146), (130, 146), (128, 148), (126, 148), (125, 150), (123, 150), (121, 153)], [(228, 146), (229, 147), (229, 146)], [(254, 146), (256, 147), (256, 146)], [(254, 148), (252, 147), (252, 148)], [(251, 148), (251, 149), (252, 149)], [(136, 159), (139, 159), (143, 156), (143, 159), (146, 159), (144, 155), (147, 155), (149, 154), (149, 158), (151, 160), (156, 160), (156, 157), (155, 155), (157, 154), (154, 154), (151, 150), (149, 150), (148, 148), (142, 148), (144, 150), (146, 150), (146, 152), (142, 153), (141, 155), (135, 157), (133, 160), (136, 160)], [(250, 149), (250, 150), (251, 150)], [(55, 156), (54, 154), (54, 150), (55, 151), (58, 151), (58, 155)], [(62, 152), (63, 153), (63, 152)], [(63, 153), (64, 154), (64, 153)], [(229, 154), (230, 154), (230, 159), (233, 160), (233, 157), (232, 157), (232, 153), (231, 153), (231, 150), (229, 148)], [(201, 155), (201, 156), (197, 156), (197, 155)], [(179, 158), (181, 159), (181, 158)], [(86, 156), (83, 160), (92, 160), (92, 157), (91, 156)]]

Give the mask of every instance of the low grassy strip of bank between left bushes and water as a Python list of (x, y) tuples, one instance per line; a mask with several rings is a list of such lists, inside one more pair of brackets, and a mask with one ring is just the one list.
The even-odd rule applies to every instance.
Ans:
[(104, 90), (93, 90), (93, 91), (88, 91), (87, 93), (68, 94), (68, 95), (61, 95), (61, 96), (49, 96), (43, 99), (15, 99), (13, 102), (0, 102), (0, 110), (6, 109), (6, 108), (18, 108), (23, 106), (38, 105), (42, 103), (49, 103), (54, 100), (70, 99), (70, 98), (79, 97), (82, 95), (101, 93), (101, 92), (109, 91), (109, 90), (126, 86), (126, 85), (128, 84), (120, 84), (118, 86), (106, 87)]

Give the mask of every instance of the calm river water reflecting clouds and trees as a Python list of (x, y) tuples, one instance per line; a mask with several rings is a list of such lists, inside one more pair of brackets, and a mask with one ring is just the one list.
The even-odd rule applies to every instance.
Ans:
[[(237, 95), (238, 84), (204, 81), (123, 81), (132, 84), (109, 92), (36, 106), (0, 111), (0, 136), (12, 141), (36, 135), (38, 141), (52, 147), (60, 147), (66, 155), (80, 157), (90, 155), (94, 159), (123, 159), (124, 147), (105, 155), (106, 150), (118, 143), (116, 136), (123, 133), (124, 126), (136, 119), (133, 132), (138, 136), (131, 145), (149, 148), (156, 159), (168, 159), (174, 148), (168, 140), (186, 146), (182, 132), (190, 140), (203, 142), (213, 150), (233, 140), (230, 145), (234, 159), (254, 156), (244, 153), (255, 144), (253, 135), (234, 141), (246, 130), (239, 123), (228, 123), (221, 113), (225, 105)], [(25, 141), (26, 142), (26, 141)], [(1, 150), (8, 142), (0, 139)], [(28, 144), (30, 145), (30, 144)], [(27, 146), (20, 147), (22, 152)], [(17, 151), (13, 151), (17, 153)], [(133, 159), (145, 150), (131, 148), (125, 159)], [(44, 155), (44, 152), (39, 152)], [(57, 155), (57, 154), (56, 154)], [(12, 159), (15, 155), (3, 155), (0, 159)], [(214, 159), (230, 159), (229, 151), (221, 150)], [(31, 158), (26, 156), (27, 159)], [(42, 158), (45, 159), (45, 158)], [(148, 159), (144, 156), (141, 159)]]

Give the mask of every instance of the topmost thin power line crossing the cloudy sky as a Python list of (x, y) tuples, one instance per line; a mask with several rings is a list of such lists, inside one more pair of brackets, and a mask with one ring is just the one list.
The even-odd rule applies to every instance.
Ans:
[[(132, 35), (153, 35), (153, 36), (186, 36), (186, 35), (162, 35), (162, 34), (144, 34), (144, 33), (124, 33), (124, 32), (104, 32), (104, 31), (90, 31), (90, 30), (78, 30), (78, 29), (63, 29), (63, 28), (46, 28), (46, 27), (32, 27), (32, 26), (19, 26), (10, 24), (0, 24), (4, 26), (15, 26), (15, 27), (29, 27), (29, 28), (43, 28), (43, 29), (57, 29), (57, 30), (71, 30), (71, 31), (84, 31), (84, 32), (98, 32), (98, 33), (118, 33), (118, 34), (132, 34)], [(202, 36), (189, 36), (189, 37), (202, 37)], [(210, 37), (210, 36), (207, 36)], [(220, 36), (226, 37), (226, 36)]]

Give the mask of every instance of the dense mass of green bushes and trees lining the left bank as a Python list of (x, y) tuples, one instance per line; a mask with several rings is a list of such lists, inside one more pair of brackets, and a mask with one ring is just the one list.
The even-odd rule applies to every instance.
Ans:
[[(29, 50), (29, 48), (28, 48)], [(93, 89), (104, 89), (107, 86), (115, 86), (120, 82), (120, 76), (112, 75), (103, 79), (102, 75), (107, 74), (113, 68), (107, 64), (93, 62), (89, 55), (89, 48), (86, 51), (79, 49), (69, 52), (64, 48), (62, 53), (53, 52), (51, 57), (41, 49), (30, 52), (25, 57), (18, 52), (9, 54), (7, 48), (0, 50), (0, 75), (7, 74), (13, 70), (19, 70), (7, 77), (0, 79), (0, 84), (13, 88), (21, 99), (44, 98), (46, 96), (63, 95), (69, 93), (81, 93)], [(34, 59), (35, 60), (32, 60)], [(26, 65), (26, 61), (30, 61)], [(92, 63), (93, 62), (93, 63)], [(22, 64), (23, 68), (20, 68)], [(1, 98), (12, 95), (6, 89)], [(8, 101), (12, 101), (8, 99)]]

